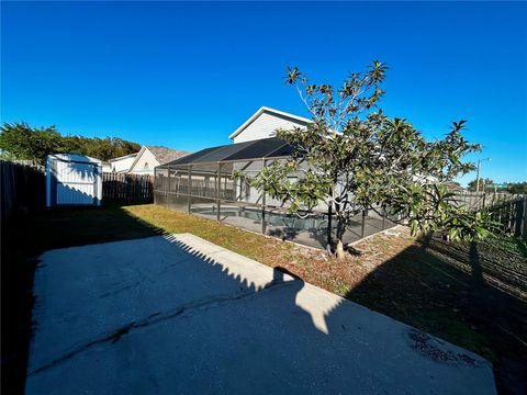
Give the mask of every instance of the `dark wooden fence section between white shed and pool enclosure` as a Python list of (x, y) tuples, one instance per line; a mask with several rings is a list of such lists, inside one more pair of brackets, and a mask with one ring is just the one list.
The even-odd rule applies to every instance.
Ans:
[(102, 201), (126, 203), (154, 202), (154, 176), (102, 173)]

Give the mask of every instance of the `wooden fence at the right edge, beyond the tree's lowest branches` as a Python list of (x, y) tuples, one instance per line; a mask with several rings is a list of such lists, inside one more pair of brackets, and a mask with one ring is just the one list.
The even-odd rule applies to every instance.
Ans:
[(462, 193), (456, 200), (474, 211), (485, 211), (505, 235), (527, 240), (527, 195), (509, 193)]

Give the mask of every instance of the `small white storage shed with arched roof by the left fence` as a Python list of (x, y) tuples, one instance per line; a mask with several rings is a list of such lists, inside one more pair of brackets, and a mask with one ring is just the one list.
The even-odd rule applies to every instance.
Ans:
[(46, 158), (46, 205), (101, 205), (102, 161), (76, 154)]

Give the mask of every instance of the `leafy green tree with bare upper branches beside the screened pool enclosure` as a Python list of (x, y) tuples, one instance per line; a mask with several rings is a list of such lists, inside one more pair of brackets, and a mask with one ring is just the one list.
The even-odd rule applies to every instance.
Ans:
[(406, 120), (386, 117), (377, 110), (385, 71), (384, 64), (373, 61), (336, 89), (313, 84), (296, 67), (289, 68), (287, 83), (296, 87), (313, 122), (305, 129), (278, 129), (277, 136), (295, 146), (296, 154), (264, 168), (250, 182), (299, 215), (328, 201), (337, 222), (329, 247), (338, 258), (345, 256), (346, 228), (362, 210), (386, 210), (414, 234), (445, 230), (452, 239), (484, 237), (484, 214), (457, 205), (442, 185), (474, 169), (461, 160), (480, 149), (463, 138), (464, 121), (453, 123), (444, 139), (427, 142)]

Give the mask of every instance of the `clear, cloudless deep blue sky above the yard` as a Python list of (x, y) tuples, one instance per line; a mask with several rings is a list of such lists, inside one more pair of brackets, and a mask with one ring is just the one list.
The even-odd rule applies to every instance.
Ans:
[(306, 116), (288, 65), (338, 83), (380, 59), (385, 113), (430, 139), (467, 119), (482, 176), (527, 180), (526, 20), (519, 2), (2, 2), (1, 122), (198, 150), (261, 105)]

